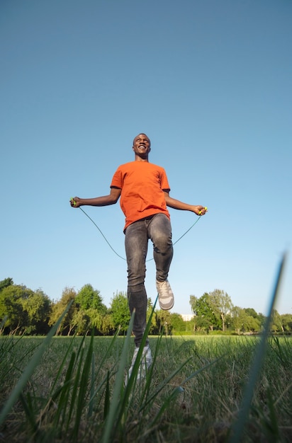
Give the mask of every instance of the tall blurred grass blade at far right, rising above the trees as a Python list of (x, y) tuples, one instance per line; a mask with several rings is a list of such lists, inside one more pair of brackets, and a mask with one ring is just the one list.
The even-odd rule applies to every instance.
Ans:
[(276, 303), (276, 298), (279, 293), (279, 285), (281, 282), (281, 277), (283, 275), (283, 267), (284, 267), (285, 262), (286, 262), (286, 253), (283, 254), (283, 257), (282, 257), (280, 265), (279, 265), (279, 271), (278, 271), (278, 274), (276, 275), (276, 282), (275, 282), (274, 292), (271, 296), (271, 305), (269, 308), (269, 314), (266, 318), (266, 323), (264, 325), (264, 332), (262, 333), (262, 338), (259, 341), (259, 345), (257, 346), (256, 352), (255, 352), (254, 363), (253, 363), (252, 368), (250, 370), (249, 381), (247, 383), (247, 386), (245, 388), (245, 393), (243, 396), (242, 408), (240, 410), (240, 416), (239, 416), (237, 422), (235, 422), (231, 428), (231, 436), (230, 436), (230, 439), (228, 440), (230, 443), (238, 443), (242, 440), (242, 433), (245, 428), (245, 422), (247, 421), (250, 406), (252, 404), (252, 397), (254, 395), (254, 388), (257, 384), (259, 372), (262, 368), (262, 363), (264, 360), (264, 353), (266, 350), (266, 339), (269, 335), (269, 326), (271, 324), (271, 317), (272, 317), (273, 309), (274, 309), (274, 306)]

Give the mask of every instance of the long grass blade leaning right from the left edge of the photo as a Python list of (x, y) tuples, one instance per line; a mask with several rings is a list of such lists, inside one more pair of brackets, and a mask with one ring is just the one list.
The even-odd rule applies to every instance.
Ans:
[(13, 408), (14, 403), (16, 403), (18, 397), (21, 395), (21, 392), (26, 386), (26, 383), (28, 382), (28, 379), (30, 378), (31, 374), (33, 374), (33, 371), (38, 366), (40, 359), (43, 357), (43, 353), (45, 352), (47, 346), (50, 343), (50, 340), (52, 340), (52, 337), (55, 335), (57, 328), (59, 327), (62, 319), (66, 315), (67, 311), (69, 310), (69, 307), (71, 306), (72, 301), (68, 304), (67, 308), (64, 310), (60, 318), (58, 319), (57, 323), (52, 327), (50, 332), (47, 334), (46, 338), (43, 340), (43, 343), (38, 347), (38, 349), (35, 351), (35, 354), (33, 355), (32, 359), (26, 366), (26, 369), (24, 369), (23, 374), (21, 378), (18, 380), (18, 383), (16, 384), (15, 388), (11, 392), (8, 400), (6, 401), (6, 404), (4, 405), (4, 408), (1, 410), (0, 413), (0, 425), (4, 422), (6, 419), (6, 416), (9, 414), (11, 408)]

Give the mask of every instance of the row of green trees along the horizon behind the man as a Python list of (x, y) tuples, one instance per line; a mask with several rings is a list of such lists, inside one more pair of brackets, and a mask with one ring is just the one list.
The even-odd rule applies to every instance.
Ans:
[[(120, 328), (125, 333), (130, 321), (127, 294), (116, 292), (109, 308), (103, 304), (99, 290), (85, 284), (78, 292), (64, 288), (60, 300), (52, 301), (41, 290), (33, 291), (21, 284), (14, 284), (8, 277), (0, 281), (0, 333), (46, 335), (50, 327), (71, 302), (57, 330), (57, 335), (84, 335), (94, 330), (96, 335), (113, 335)], [(233, 306), (229, 295), (215, 289), (198, 298), (190, 296), (193, 318), (184, 321), (179, 313), (155, 309), (150, 334), (210, 333), (220, 330), (229, 333), (259, 333), (265, 317), (252, 308)], [(153, 302), (148, 299), (147, 319)], [(274, 311), (271, 331), (290, 333), (292, 315), (280, 315)]]

